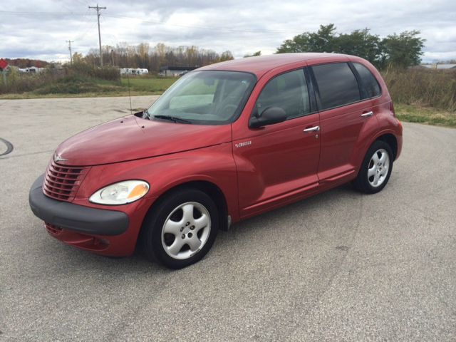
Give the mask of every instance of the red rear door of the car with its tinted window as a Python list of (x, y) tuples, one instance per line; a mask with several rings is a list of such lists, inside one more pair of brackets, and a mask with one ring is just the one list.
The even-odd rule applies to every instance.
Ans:
[(356, 153), (365, 125), (376, 123), (370, 99), (363, 99), (353, 65), (346, 62), (311, 66), (321, 127), (318, 178), (321, 183), (353, 178)]

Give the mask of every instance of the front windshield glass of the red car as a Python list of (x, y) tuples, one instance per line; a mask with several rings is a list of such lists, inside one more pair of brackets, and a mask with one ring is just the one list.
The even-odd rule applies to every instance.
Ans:
[(182, 76), (144, 117), (175, 123), (232, 123), (244, 108), (255, 76), (237, 71), (194, 71)]

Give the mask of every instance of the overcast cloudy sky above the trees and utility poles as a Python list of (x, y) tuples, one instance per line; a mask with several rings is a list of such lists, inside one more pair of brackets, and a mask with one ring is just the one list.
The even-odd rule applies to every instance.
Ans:
[[(104, 1), (104, 2), (103, 2)], [(89, 0), (2, 0), (0, 58), (69, 59), (98, 48), (95, 10)], [(456, 59), (455, 0), (100, 0), (101, 42), (115, 46), (163, 42), (196, 45), (239, 58), (261, 50), (274, 53), (288, 38), (336, 24), (338, 33), (371, 28), (387, 36), (420, 30), (423, 61)]]

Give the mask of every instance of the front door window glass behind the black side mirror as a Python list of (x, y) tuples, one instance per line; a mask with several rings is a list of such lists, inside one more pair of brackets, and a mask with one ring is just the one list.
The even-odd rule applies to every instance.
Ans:
[(287, 118), (309, 114), (309, 92), (304, 71), (299, 69), (272, 78), (261, 90), (255, 107), (257, 116), (270, 107), (282, 108)]

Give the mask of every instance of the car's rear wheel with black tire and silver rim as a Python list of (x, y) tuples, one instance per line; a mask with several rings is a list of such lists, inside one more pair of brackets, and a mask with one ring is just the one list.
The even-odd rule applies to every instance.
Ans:
[(356, 190), (365, 194), (375, 194), (383, 190), (393, 170), (393, 151), (390, 145), (376, 140), (369, 147), (358, 177), (353, 181)]

